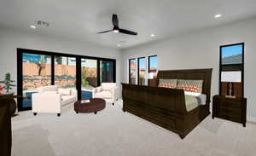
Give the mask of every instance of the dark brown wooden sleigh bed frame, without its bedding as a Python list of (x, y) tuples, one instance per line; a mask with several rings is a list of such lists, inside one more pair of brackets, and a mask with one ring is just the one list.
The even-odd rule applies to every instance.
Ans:
[(188, 112), (183, 90), (122, 84), (123, 111), (172, 130), (183, 139), (210, 114), (212, 69), (159, 71), (156, 84), (160, 78), (203, 80), (202, 93), (207, 95), (206, 104)]

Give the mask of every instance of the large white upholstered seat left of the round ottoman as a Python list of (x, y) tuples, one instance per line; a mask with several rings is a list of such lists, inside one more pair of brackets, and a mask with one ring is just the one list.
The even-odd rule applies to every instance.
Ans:
[(56, 85), (39, 87), (38, 93), (32, 94), (32, 113), (57, 113), (61, 116), (61, 107), (77, 100), (75, 89), (61, 89)]

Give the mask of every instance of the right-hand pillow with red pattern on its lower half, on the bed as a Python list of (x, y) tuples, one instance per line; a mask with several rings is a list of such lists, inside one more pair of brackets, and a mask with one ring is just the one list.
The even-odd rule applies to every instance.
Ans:
[(177, 80), (177, 89), (183, 89), (185, 91), (201, 93), (203, 80)]

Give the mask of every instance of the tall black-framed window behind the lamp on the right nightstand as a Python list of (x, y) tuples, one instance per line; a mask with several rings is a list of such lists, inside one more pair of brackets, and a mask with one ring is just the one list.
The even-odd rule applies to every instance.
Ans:
[(243, 97), (244, 43), (220, 46), (219, 94)]

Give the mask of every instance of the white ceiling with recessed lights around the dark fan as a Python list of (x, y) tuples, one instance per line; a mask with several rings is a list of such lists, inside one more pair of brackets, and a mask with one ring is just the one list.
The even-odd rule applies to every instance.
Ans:
[[(130, 48), (183, 32), (219, 26), (256, 15), (256, 0), (0, 0), (0, 26), (36, 31), (118, 48)], [(112, 14), (119, 26), (138, 32), (96, 34), (111, 29)], [(224, 16), (218, 20), (215, 14)], [(32, 30), (37, 20), (49, 27)], [(154, 33), (155, 38), (150, 34)]]

